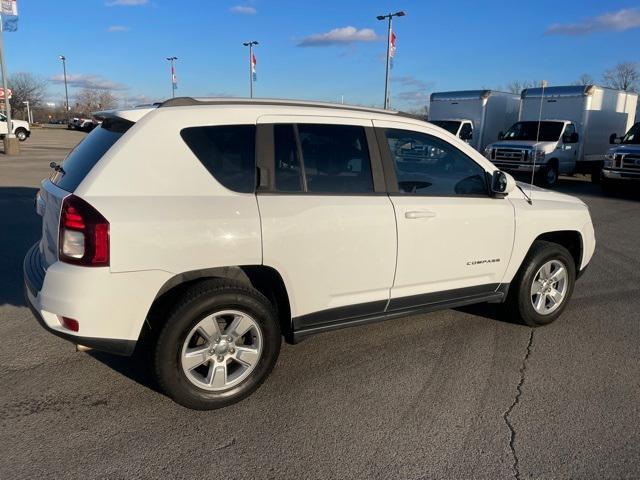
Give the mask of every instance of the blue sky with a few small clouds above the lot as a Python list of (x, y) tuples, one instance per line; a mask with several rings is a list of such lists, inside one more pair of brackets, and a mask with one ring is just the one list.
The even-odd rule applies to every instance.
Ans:
[[(414, 108), (432, 91), (497, 88), (511, 80), (567, 84), (621, 61), (639, 61), (640, 4), (458, 0), (19, 0), (5, 33), (9, 72), (51, 80), (59, 101), (67, 57), (70, 95), (113, 88), (129, 102), (178, 94), (248, 94), (243, 41), (258, 40), (256, 96), (381, 105), (386, 25), (395, 22), (392, 106)], [(352, 27), (352, 28), (347, 28)], [(333, 32), (332, 32), (333, 31)]]

